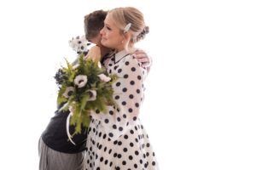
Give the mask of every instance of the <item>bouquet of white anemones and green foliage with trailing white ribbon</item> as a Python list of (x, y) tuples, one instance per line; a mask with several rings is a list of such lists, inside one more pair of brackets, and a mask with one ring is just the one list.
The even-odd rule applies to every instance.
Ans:
[(107, 113), (107, 105), (118, 105), (113, 99), (112, 83), (116, 75), (108, 75), (100, 62), (91, 59), (84, 60), (84, 54), (79, 55), (78, 65), (71, 65), (67, 59), (67, 67), (61, 67), (55, 75), (59, 87), (57, 103), (61, 110), (70, 111), (67, 117), (67, 135), (69, 123), (75, 126), (75, 132), (81, 133), (81, 127), (90, 124), (90, 111)]

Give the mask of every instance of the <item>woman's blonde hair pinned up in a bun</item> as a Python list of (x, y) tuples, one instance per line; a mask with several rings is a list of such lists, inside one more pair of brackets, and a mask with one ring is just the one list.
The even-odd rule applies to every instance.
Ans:
[(131, 23), (129, 30), (133, 33), (131, 38), (133, 43), (143, 39), (149, 31), (149, 27), (145, 25), (143, 13), (137, 8), (113, 8), (108, 15), (115, 21), (121, 33), (124, 33), (125, 26)]

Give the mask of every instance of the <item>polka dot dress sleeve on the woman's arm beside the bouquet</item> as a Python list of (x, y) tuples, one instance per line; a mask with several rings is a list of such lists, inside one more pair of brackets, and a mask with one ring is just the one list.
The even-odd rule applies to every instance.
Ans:
[(102, 120), (108, 137), (113, 140), (119, 139), (136, 124), (143, 102), (143, 77), (146, 74), (132, 56), (119, 61), (116, 71), (119, 79), (113, 83), (113, 99), (118, 103), (119, 109), (108, 108), (109, 114)]

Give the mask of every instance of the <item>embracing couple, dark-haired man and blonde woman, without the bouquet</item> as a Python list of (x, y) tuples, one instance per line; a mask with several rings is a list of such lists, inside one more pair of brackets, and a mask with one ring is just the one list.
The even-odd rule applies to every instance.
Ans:
[(158, 169), (139, 119), (143, 81), (150, 68), (148, 55), (134, 47), (148, 33), (143, 14), (132, 7), (98, 10), (84, 16), (84, 31), (86, 39), (96, 44), (84, 55), (101, 61), (109, 74), (119, 77), (113, 83), (119, 108), (109, 105), (108, 114), (91, 111), (90, 126), (73, 136), (73, 144), (66, 130), (69, 111), (60, 111), (59, 105), (39, 139), (39, 169)]

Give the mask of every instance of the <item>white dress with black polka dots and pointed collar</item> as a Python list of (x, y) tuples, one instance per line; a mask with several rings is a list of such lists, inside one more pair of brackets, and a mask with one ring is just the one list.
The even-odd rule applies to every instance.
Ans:
[(85, 169), (158, 169), (148, 134), (138, 118), (145, 71), (125, 50), (104, 64), (108, 73), (119, 76), (113, 83), (113, 97), (120, 108), (108, 106), (108, 114), (91, 114)]

